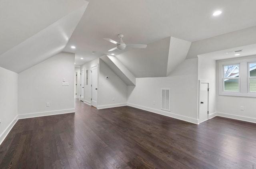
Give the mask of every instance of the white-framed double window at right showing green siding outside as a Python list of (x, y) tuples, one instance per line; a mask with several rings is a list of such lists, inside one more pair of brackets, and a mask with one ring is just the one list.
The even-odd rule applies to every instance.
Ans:
[(219, 94), (256, 97), (256, 58), (218, 61)]

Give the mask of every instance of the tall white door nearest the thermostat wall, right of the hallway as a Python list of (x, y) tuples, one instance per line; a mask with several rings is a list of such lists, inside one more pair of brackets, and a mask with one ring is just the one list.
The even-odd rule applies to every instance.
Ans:
[(92, 106), (98, 107), (98, 66), (92, 67)]

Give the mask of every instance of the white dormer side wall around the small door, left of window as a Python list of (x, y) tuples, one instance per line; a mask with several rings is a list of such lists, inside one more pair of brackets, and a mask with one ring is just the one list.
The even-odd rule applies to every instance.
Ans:
[(216, 112), (216, 61), (211, 58), (198, 56), (198, 80), (209, 81), (209, 116)]

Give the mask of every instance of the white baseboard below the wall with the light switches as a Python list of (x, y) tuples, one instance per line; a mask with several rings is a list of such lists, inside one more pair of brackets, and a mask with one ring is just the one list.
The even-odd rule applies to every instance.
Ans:
[(33, 117), (42, 117), (42, 116), (51, 116), (56, 114), (66, 114), (66, 113), (74, 113), (75, 109), (66, 109), (66, 110), (55, 110), (49, 112), (38, 112), (38, 113), (29, 113), (29, 114), (18, 114), (18, 119), (24, 118), (33, 118)]

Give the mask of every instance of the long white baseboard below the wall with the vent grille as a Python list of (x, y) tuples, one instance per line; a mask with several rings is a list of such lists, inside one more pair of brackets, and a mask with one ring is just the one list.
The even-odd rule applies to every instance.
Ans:
[(195, 119), (195, 118), (190, 118), (190, 117), (187, 117), (187, 116), (174, 114), (174, 113), (167, 112), (167, 111), (164, 111), (164, 110), (158, 110), (158, 109), (149, 108), (149, 107), (145, 107), (145, 106), (140, 106), (140, 105), (132, 104), (132, 103), (127, 103), (127, 106), (131, 106), (131, 107), (134, 107), (134, 108), (146, 110), (148, 112), (152, 112), (152, 113), (156, 113), (156, 114), (161, 114), (161, 115), (168, 116), (168, 117), (171, 117), (171, 118), (176, 118), (176, 119), (183, 120), (183, 121), (186, 121), (186, 122), (198, 124), (198, 120)]

